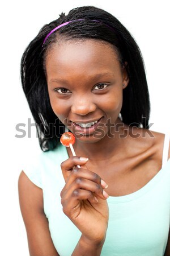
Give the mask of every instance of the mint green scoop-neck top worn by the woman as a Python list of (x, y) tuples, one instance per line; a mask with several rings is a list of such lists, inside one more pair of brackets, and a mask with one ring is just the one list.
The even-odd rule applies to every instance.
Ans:
[[(125, 196), (110, 196), (109, 223), (102, 256), (163, 256), (170, 218), (169, 136), (165, 136), (163, 166), (144, 187)], [(23, 168), (43, 190), (44, 212), (54, 246), (60, 256), (70, 256), (81, 233), (63, 213), (60, 192), (65, 185), (60, 164), (68, 158), (62, 144)]]

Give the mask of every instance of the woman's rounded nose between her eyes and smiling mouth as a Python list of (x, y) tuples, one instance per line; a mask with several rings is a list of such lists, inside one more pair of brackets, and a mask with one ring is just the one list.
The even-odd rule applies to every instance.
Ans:
[(96, 110), (96, 105), (89, 98), (78, 98), (71, 106), (71, 112), (78, 115), (87, 115)]

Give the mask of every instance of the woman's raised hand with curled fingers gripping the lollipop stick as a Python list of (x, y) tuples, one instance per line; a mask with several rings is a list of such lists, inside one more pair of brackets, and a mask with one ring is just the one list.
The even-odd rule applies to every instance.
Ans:
[[(105, 240), (108, 226), (108, 195), (99, 175), (90, 170), (75, 167), (86, 164), (73, 156), (61, 164), (66, 184), (61, 191), (63, 212), (82, 232), (84, 239), (100, 243)], [(101, 185), (101, 183), (103, 185)], [(95, 199), (98, 200), (96, 200)]]

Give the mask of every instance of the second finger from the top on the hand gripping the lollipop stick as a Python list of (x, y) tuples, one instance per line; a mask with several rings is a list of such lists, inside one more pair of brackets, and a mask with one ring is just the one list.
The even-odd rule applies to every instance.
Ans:
[(63, 195), (63, 192), (65, 192), (67, 190), (67, 188), (70, 186), (70, 184), (73, 183), (75, 181), (75, 179), (77, 179), (79, 177), (94, 181), (97, 184), (102, 183), (101, 177), (99, 175), (95, 174), (95, 172), (92, 172), (92, 171), (87, 170), (87, 169), (75, 167), (73, 169), (73, 171), (71, 171), (70, 176), (67, 178), (66, 184), (65, 184), (65, 186), (63, 187), (63, 189), (60, 193), (61, 197)]

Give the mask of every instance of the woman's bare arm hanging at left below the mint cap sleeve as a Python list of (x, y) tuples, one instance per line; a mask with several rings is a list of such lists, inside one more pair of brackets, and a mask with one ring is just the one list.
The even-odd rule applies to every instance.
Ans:
[(42, 189), (33, 184), (23, 171), (19, 176), (18, 186), (30, 255), (59, 256), (50, 237), (48, 220), (43, 208)]

